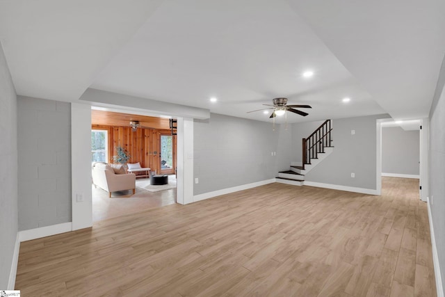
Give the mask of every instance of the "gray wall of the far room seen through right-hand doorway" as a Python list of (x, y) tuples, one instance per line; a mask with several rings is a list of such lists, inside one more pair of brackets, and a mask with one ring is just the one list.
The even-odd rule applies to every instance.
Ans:
[(419, 175), (420, 134), (401, 127), (382, 128), (382, 172)]

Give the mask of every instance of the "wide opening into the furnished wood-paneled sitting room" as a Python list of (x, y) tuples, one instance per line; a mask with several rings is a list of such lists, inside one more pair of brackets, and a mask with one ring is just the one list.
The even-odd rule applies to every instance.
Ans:
[[(169, 118), (93, 107), (91, 131), (92, 161), (103, 163), (99, 166), (92, 163), (93, 222), (176, 203), (177, 141), (172, 136)], [(122, 152), (128, 156), (125, 162), (113, 158)], [(104, 182), (98, 180), (104, 174), (101, 166), (110, 166), (114, 171), (115, 179), (108, 178), (105, 182), (120, 183), (118, 178), (132, 178), (130, 182), (136, 188), (101, 184)], [(141, 170), (135, 171), (134, 166), (140, 166)], [(136, 173), (136, 178), (129, 169)], [(152, 184), (150, 177), (154, 175), (168, 175), (168, 184)]]

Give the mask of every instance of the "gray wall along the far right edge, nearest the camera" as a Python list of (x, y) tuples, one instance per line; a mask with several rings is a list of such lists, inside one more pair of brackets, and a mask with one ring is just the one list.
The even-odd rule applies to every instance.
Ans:
[[(441, 76), (445, 75), (442, 67)], [(434, 226), (442, 284), (445, 284), (445, 88), (440, 83), (440, 96), (435, 97), (430, 111), (430, 207)], [(445, 292), (444, 292), (445, 293)]]

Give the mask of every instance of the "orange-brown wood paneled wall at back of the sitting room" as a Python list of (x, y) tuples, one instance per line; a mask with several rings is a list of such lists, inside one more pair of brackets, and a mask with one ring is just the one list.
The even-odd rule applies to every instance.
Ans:
[[(170, 130), (138, 128), (133, 131), (131, 127), (111, 127), (92, 125), (91, 129), (108, 131), (108, 162), (113, 163), (116, 147), (122, 145), (131, 158), (128, 163), (140, 163), (143, 168), (149, 167), (161, 173), (160, 142), (161, 134), (171, 134)], [(173, 168), (177, 162), (177, 140), (173, 142)]]

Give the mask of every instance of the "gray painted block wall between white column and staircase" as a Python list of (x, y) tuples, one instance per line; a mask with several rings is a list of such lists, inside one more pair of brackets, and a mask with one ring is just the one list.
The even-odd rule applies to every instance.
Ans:
[(279, 129), (272, 124), (211, 113), (193, 124), (193, 195), (274, 178)]

